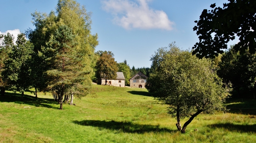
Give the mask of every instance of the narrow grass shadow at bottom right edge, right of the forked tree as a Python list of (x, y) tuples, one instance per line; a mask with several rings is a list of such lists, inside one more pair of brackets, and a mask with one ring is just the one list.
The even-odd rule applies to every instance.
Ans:
[(208, 125), (210, 128), (224, 128), (229, 131), (237, 131), (240, 133), (256, 133), (256, 124), (254, 125), (236, 125), (233, 123), (216, 123), (212, 125)]

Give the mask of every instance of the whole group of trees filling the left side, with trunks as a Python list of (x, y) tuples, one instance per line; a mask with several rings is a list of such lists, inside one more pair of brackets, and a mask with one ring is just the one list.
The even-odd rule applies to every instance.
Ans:
[[(89, 93), (97, 34), (90, 32), (91, 13), (74, 0), (59, 0), (56, 11), (32, 14), (35, 29), (13, 36), (1, 35), (1, 95), (8, 88), (21, 92), (33, 87), (51, 92), (56, 101), (67, 103)], [(26, 39), (26, 36), (29, 40)]]

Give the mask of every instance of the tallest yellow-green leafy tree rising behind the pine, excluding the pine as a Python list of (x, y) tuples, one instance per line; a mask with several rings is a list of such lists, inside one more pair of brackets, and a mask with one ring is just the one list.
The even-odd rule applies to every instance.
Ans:
[[(38, 53), (35, 58), (39, 59), (39, 62), (35, 63), (35, 65), (38, 66), (39, 69), (35, 69), (35, 72), (33, 73), (35, 73), (34, 75), (39, 73), (40, 77), (42, 77), (39, 78), (39, 82), (36, 83), (40, 83), (40, 81), (42, 81), (43, 83), (54, 83), (54, 81), (52, 81), (53, 78), (43, 78), (46, 76), (45, 73), (48, 73), (47, 76), (49, 76), (49, 71), (52, 70), (51, 66), (45, 65), (50, 64), (49, 59), (52, 58), (50, 56), (55, 56), (53, 53), (52, 55), (49, 52), (47, 53), (47, 50), (49, 50), (50, 45), (52, 45), (52, 48), (55, 48), (55, 50), (56, 48), (58, 48), (58, 46), (60, 46), (56, 43), (62, 43), (63, 41), (61, 42), (61, 39), (56, 39), (58, 37), (56, 35), (56, 31), (59, 31), (60, 27), (66, 25), (65, 27), (67, 27), (67, 29), (70, 29), (72, 35), (74, 35), (73, 41), (76, 43), (76, 45), (72, 47), (70, 53), (66, 54), (74, 54), (73, 56), (77, 57), (77, 59), (75, 59), (75, 63), (73, 63), (73, 67), (80, 66), (78, 70), (80, 70), (80, 73), (83, 73), (83, 77), (80, 78), (80, 80), (82, 79), (83, 81), (81, 83), (81, 81), (78, 82), (72, 80), (74, 83), (72, 84), (72, 87), (68, 88), (69, 90), (67, 90), (65, 97), (68, 97), (67, 95), (74, 95), (80, 98), (88, 93), (88, 89), (91, 86), (90, 78), (94, 74), (94, 50), (95, 47), (98, 45), (97, 34), (91, 34), (90, 15), (91, 13), (87, 12), (84, 6), (80, 6), (80, 4), (74, 0), (59, 0), (56, 6), (56, 12), (52, 11), (48, 15), (38, 12), (32, 14), (35, 29), (29, 29), (27, 31), (27, 35), (31, 42), (35, 43), (34, 51)], [(71, 34), (70, 30), (67, 30), (69, 31), (69, 33), (63, 34)], [(54, 65), (54, 63), (52, 63), (52, 65)], [(43, 68), (42, 71), (44, 72), (41, 72), (41, 68)], [(47, 79), (47, 81), (45, 81), (45, 79)], [(77, 76), (74, 76), (74, 79), (77, 79)], [(45, 91), (49, 91), (49, 89), (51, 89), (49, 88), (50, 86), (48, 86), (48, 88), (44, 88), (45, 84), (38, 84), (38, 86), (41, 86), (41, 89)], [(53, 95), (57, 95), (57, 97), (60, 97), (60, 93), (57, 93), (55, 91), (56, 89), (52, 90)], [(67, 99), (68, 98), (65, 98), (65, 100)]]

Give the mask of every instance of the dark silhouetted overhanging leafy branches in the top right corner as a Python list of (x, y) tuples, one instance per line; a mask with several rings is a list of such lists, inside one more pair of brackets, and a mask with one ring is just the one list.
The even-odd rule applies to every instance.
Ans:
[[(256, 1), (255, 0), (229, 0), (223, 8), (216, 7), (215, 3), (204, 9), (197, 26), (193, 28), (199, 38), (192, 49), (197, 57), (215, 58), (222, 49), (227, 49), (227, 43), (239, 37), (234, 50), (244, 53), (256, 51)], [(214, 9), (213, 9), (214, 8)], [(214, 38), (212, 37), (214, 35)]]

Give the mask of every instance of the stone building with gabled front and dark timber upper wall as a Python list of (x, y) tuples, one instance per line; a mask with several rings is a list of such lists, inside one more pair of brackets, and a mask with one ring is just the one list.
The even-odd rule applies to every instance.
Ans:
[(130, 87), (132, 88), (145, 88), (147, 76), (139, 71), (132, 78), (130, 78)]

